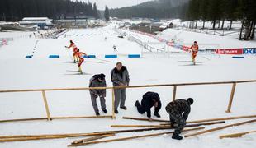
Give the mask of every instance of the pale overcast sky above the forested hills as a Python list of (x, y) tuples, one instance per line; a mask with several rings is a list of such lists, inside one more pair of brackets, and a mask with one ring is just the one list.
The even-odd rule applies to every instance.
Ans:
[[(88, 2), (88, 0), (80, 0), (80, 1)], [(89, 2), (92, 2), (92, 3), (96, 2), (97, 9), (99, 10), (104, 10), (106, 5), (109, 8), (128, 7), (128, 6), (137, 5), (138, 3), (147, 2), (147, 1), (152, 1), (152, 0), (89, 0)]]

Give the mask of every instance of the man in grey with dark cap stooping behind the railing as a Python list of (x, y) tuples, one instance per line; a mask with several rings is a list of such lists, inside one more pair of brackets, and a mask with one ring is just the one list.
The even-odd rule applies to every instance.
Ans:
[[(92, 76), (92, 79), (90, 80), (89, 87), (106, 87), (106, 81), (105, 81), (105, 75), (99, 74)], [(107, 113), (106, 109), (106, 89), (102, 90), (90, 90), (91, 100), (92, 100), (92, 106), (97, 116), (100, 115), (99, 110), (97, 108), (97, 97), (100, 98), (102, 111), (104, 113)]]

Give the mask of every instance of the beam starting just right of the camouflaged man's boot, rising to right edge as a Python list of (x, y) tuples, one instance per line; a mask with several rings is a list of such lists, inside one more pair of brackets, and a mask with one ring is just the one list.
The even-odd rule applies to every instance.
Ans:
[(228, 127), (235, 127), (235, 126), (240, 126), (240, 125), (244, 125), (244, 124), (247, 124), (247, 123), (254, 123), (254, 122), (256, 122), (256, 119), (249, 120), (249, 121), (246, 121), (246, 122), (241, 122), (241, 123), (229, 124), (229, 125), (226, 125), (226, 126), (223, 126), (223, 127), (211, 128), (209, 130), (205, 130), (205, 131), (201, 131), (201, 132), (190, 133), (190, 134), (185, 135), (185, 137), (197, 136), (197, 135), (201, 135), (201, 134), (208, 133), (208, 132), (219, 131), (219, 130), (222, 130), (222, 129), (225, 129), (225, 128), (228, 128)]

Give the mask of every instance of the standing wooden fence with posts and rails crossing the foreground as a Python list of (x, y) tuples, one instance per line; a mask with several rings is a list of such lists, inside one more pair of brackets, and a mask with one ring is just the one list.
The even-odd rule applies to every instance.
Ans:
[[(218, 81), (218, 82), (197, 82), (197, 83), (176, 83), (176, 84), (161, 84), (161, 85), (145, 85), (145, 86), (115, 86), (115, 87), (84, 87), (84, 88), (55, 88), (55, 89), (34, 89), (34, 90), (0, 90), (0, 93), (12, 93), (12, 92), (35, 92), (40, 91), (42, 93), (44, 104), (45, 104), (45, 111), (47, 118), (21, 118), (21, 119), (11, 119), (11, 120), (1, 120), (0, 123), (7, 123), (7, 122), (20, 122), (20, 121), (36, 121), (36, 120), (52, 120), (52, 119), (67, 119), (67, 118), (116, 118), (116, 114), (114, 112), (114, 102), (115, 102), (115, 89), (130, 89), (130, 88), (146, 88), (146, 87), (166, 87), (166, 86), (173, 86), (173, 100), (176, 99), (176, 92), (178, 90), (178, 86), (201, 86), (201, 85), (223, 85), (223, 84), (232, 84), (232, 89), (230, 92), (230, 99), (229, 104), (226, 109), (226, 113), (230, 113), (233, 99), (235, 96), (235, 88), (236, 85), (239, 83), (254, 83), (256, 80), (249, 80), (249, 81)], [(48, 106), (47, 98), (46, 98), (46, 91), (60, 91), (60, 90), (102, 90), (107, 89), (111, 90), (112, 95), (112, 113), (111, 115), (107, 116), (80, 116), (80, 117), (51, 117), (50, 116), (50, 109)]]

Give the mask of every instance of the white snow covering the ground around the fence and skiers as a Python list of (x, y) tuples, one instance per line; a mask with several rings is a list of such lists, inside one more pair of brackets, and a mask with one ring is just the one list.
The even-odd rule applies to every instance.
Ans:
[[(70, 30), (67, 37), (64, 35), (59, 39), (29, 39), (28, 37), (17, 38), (7, 46), (0, 49), (0, 90), (16, 89), (41, 89), (41, 88), (66, 88), (66, 87), (87, 87), (92, 75), (105, 73), (107, 75), (107, 86), (111, 86), (110, 72), (115, 67), (116, 62), (121, 61), (130, 72), (130, 85), (166, 84), (178, 82), (203, 82), (203, 81), (239, 81), (256, 79), (256, 57), (246, 56), (244, 59), (233, 59), (231, 56), (205, 57), (198, 55), (197, 61), (201, 62), (196, 66), (190, 65), (190, 55), (154, 55), (148, 54), (143, 58), (126, 58), (124, 54), (140, 53), (138, 44), (125, 39), (117, 38), (113, 25), (104, 28), (87, 30)], [(173, 30), (167, 30), (173, 31)], [(175, 32), (165, 34), (165, 38)], [(19, 33), (20, 36), (21, 33)], [(27, 35), (28, 33), (25, 33)], [(195, 38), (186, 35), (181, 39), (191, 43)], [(0, 33), (0, 36), (12, 36), (9, 33)], [(13, 34), (15, 35), (15, 34)], [(140, 38), (154, 42), (147, 36)], [(107, 37), (107, 41), (105, 41)], [(205, 35), (197, 35), (199, 44), (206, 38)], [(216, 36), (216, 38), (220, 38)], [(69, 39), (78, 45), (78, 48), (88, 54), (98, 55), (97, 59), (86, 59), (83, 63), (83, 71), (88, 75), (76, 75), (77, 65), (72, 63), (71, 50), (64, 49), (64, 45), (69, 45)], [(190, 40), (191, 39), (191, 40)], [(212, 43), (219, 42), (224, 47), (235, 45), (254, 45), (254, 42), (239, 43), (237, 40), (215, 39), (211, 36)], [(36, 50), (33, 48), (38, 40)], [(155, 42), (157, 42), (155, 40)], [(119, 58), (101, 58), (104, 54), (112, 54), (112, 46), (116, 45)], [(31, 59), (26, 59), (26, 55), (34, 54)], [(60, 58), (50, 59), (50, 54), (59, 54)], [(116, 53), (115, 53), (116, 54)], [(220, 118), (236, 115), (255, 114), (256, 104), (256, 83), (239, 84), (235, 91), (232, 113), (225, 113), (228, 104), (231, 85), (219, 86), (180, 86), (177, 97), (187, 99), (192, 97), (195, 103), (192, 105), (192, 112), (188, 120), (203, 118)], [(134, 103), (136, 99), (146, 91), (156, 91), (159, 93), (163, 108), (160, 111), (163, 119), (168, 119), (165, 106), (172, 99), (172, 87), (140, 88), (129, 89), (126, 92), (127, 111), (119, 110), (116, 120), (111, 119), (69, 119), (53, 120), (51, 122), (22, 122), (22, 123), (1, 123), (0, 135), (21, 135), (21, 134), (56, 134), (72, 132), (95, 132), (113, 130), (111, 124), (158, 124), (138, 121), (123, 120), (123, 116), (146, 118), (146, 115), (137, 113)], [(46, 92), (48, 103), (50, 104), (51, 116), (83, 116), (94, 115), (88, 91), (55, 91)], [(40, 92), (30, 93), (2, 93), (0, 94), (0, 119), (12, 118), (40, 118), (45, 117), (45, 108)], [(111, 91), (107, 91), (107, 110), (111, 112)], [(103, 115), (104, 113), (101, 112)], [(243, 120), (244, 121), (244, 120)], [(227, 123), (237, 123), (239, 120)], [(218, 127), (220, 125), (210, 126)], [(250, 134), (239, 139), (220, 140), (218, 136), (226, 133), (246, 132), (255, 130), (256, 124), (251, 123), (240, 127), (230, 127), (220, 132), (185, 138), (183, 141), (174, 141), (171, 135), (156, 136), (131, 141), (112, 142), (107, 144), (93, 145), (90, 147), (113, 147), (121, 146), (128, 148), (136, 147), (246, 147), (256, 146), (256, 135)], [(138, 136), (154, 132), (125, 133), (118, 136)], [(79, 138), (69, 138), (49, 141), (23, 141), (12, 143), (0, 143), (0, 147), (65, 147), (71, 141)], [(111, 139), (111, 138), (109, 138)], [(86, 146), (84, 146), (86, 147)]]

